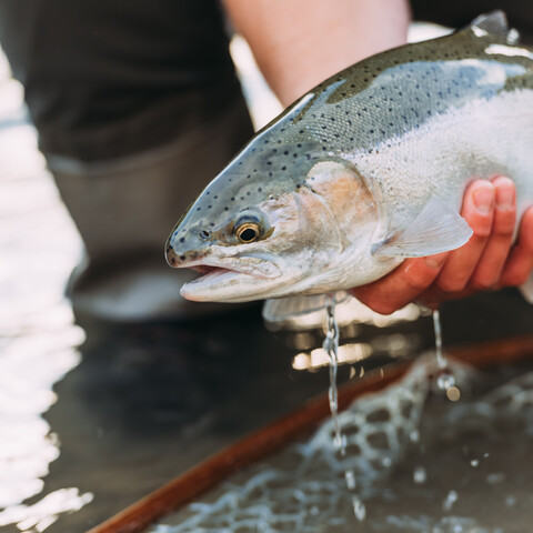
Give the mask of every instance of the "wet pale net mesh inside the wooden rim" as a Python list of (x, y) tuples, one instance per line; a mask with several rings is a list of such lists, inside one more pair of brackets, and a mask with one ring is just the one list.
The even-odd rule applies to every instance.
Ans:
[[(472, 371), (455, 364), (453, 371), (457, 385), (467, 393)], [(483, 426), (492, 428), (499, 420), (509, 421), (515, 415), (517, 415), (515, 420), (520, 421), (520, 424), (533, 436), (533, 373), (521, 375), (494, 388), (475, 401), (461, 401), (453, 404), (441, 402), (438, 404), (436, 412), (432, 411), (426, 415), (432, 403), (428, 402), (428, 398), (435, 389), (430, 376), (435, 374), (434, 356), (422, 358), (401, 382), (389, 386), (385, 391), (358, 399), (348, 410), (340, 413), (339, 423), (345, 440), (344, 454), (341, 454), (339, 446), (334, 445), (335, 428), (333, 422), (328, 420), (306, 442), (291, 445), (268, 463), (233, 476), (231, 482), (223, 483), (212, 491), (204, 502), (190, 504), (173, 517), (165, 519), (167, 525), (158, 525), (152, 533), (344, 533), (353, 531), (502, 533), (507, 531), (500, 526), (482, 527), (477, 522), (480, 516), (455, 515), (453, 510), (459, 505), (461, 490), (457, 495), (456, 491), (442, 486), (435, 492), (436, 504), (421, 504), (420, 502), (430, 492), (435, 491), (435, 489), (429, 490), (424, 484), (426, 475), (435, 475), (435, 473), (425, 472), (428, 464), (425, 467), (421, 466), (419, 461), (423, 459), (423, 451), (420, 446), (429, 445), (428, 434), (440, 442), (462, 443), (461, 431), (464, 431), (464, 428), (476, 430)], [(442, 391), (438, 392), (440, 398), (443, 398)], [(524, 424), (524, 421), (527, 423)], [(430, 431), (430, 428), (434, 431)], [(446, 432), (450, 433), (447, 438)], [(499, 439), (502, 438), (499, 436)], [(510, 442), (514, 442), (513, 439), (516, 438), (510, 432)], [(486, 433), (483, 433), (482, 442), (485, 441)], [(464, 444), (461, 446), (465, 449)], [(501, 450), (501, 445), (499, 446), (491, 452), (491, 459), (497, 450)], [(523, 455), (529, 457), (531, 450), (527, 443), (523, 447)], [(413, 456), (416, 457), (414, 462), (412, 462)], [(490, 471), (486, 477), (480, 477), (481, 462), (489, 461), (484, 460), (484, 456), (489, 456), (489, 453), (481, 455), (481, 461), (472, 461), (471, 467), (481, 480), (477, 489), (473, 490), (481, 491), (481, 494), (484, 491), (483, 486), (493, 487), (494, 483), (500, 483), (501, 480), (501, 476), (496, 480), (495, 474)], [(404, 461), (402, 457), (405, 457)], [(411, 464), (406, 466), (405, 463), (410, 461)], [(442, 463), (441, 472), (446, 473), (451, 469), (451, 465), (445, 466), (439, 460), (439, 455), (436, 463), (434, 459), (431, 461), (434, 465)], [(460, 469), (464, 467), (462, 466), (464, 459), (460, 456), (456, 461)], [(505, 454), (504, 461), (506, 462)], [(399, 491), (405, 492), (406, 485), (391, 484), (392, 471), (396, 470), (398, 473), (405, 469), (411, 469), (414, 474), (414, 481), (412, 476), (410, 485), (412, 495), (408, 497), (419, 502), (418, 512), (411, 515), (403, 511), (403, 504), (399, 503), (398, 499)], [(523, 470), (523, 466), (519, 470)], [(421, 473), (424, 475), (419, 475)], [(524, 471), (524, 475), (530, 474)], [(463, 482), (455, 479), (452, 483), (462, 486)], [(506, 490), (509, 491), (511, 486), (513, 485), (511, 484)], [(529, 494), (530, 491), (526, 490), (524, 502), (530, 497)], [(356, 506), (363, 505), (362, 502), (369, 500), (375, 502), (372, 500), (374, 496), (382, 502), (389, 502), (386, 504), (389, 512), (380, 514), (378, 520), (374, 516), (370, 522), (366, 520), (365, 523), (358, 524), (354, 514), (358, 516), (358, 511), (361, 509), (358, 510)], [(486, 495), (480, 497), (483, 499)], [(519, 509), (515, 501), (519, 501), (520, 496), (512, 497), (514, 500), (506, 494), (503, 505), (515, 513)], [(526, 523), (531, 520), (529, 514), (531, 502), (527, 502), (524, 503), (523, 510)], [(383, 507), (383, 504), (381, 505)], [(494, 509), (496, 515), (494, 520), (500, 520), (502, 511), (495, 506)], [(484, 513), (483, 519), (489, 521), (486, 514)]]

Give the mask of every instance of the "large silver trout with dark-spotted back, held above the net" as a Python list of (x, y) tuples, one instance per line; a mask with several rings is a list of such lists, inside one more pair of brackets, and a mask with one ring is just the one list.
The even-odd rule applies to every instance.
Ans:
[(511, 177), (523, 213), (532, 147), (533, 50), (502, 11), (482, 14), (296, 100), (200, 193), (167, 261), (202, 274), (181, 289), (192, 301), (349, 290), (467, 242), (473, 178)]

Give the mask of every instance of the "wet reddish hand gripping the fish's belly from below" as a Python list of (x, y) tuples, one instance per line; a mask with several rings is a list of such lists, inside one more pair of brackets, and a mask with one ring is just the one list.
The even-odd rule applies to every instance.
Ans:
[(504, 177), (476, 180), (467, 188), (461, 214), (473, 230), (466, 244), (451, 252), (405, 260), (378, 281), (352, 294), (372, 310), (390, 314), (418, 301), (435, 309), (440, 302), (482, 290), (524, 283), (533, 270), (533, 208), (516, 223), (516, 191)]

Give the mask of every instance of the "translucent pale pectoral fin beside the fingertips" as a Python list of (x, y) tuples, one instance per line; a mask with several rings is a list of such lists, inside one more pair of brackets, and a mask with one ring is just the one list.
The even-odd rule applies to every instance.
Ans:
[(373, 244), (372, 253), (386, 258), (422, 258), (462, 247), (472, 237), (466, 221), (444, 201), (432, 198), (403, 230)]

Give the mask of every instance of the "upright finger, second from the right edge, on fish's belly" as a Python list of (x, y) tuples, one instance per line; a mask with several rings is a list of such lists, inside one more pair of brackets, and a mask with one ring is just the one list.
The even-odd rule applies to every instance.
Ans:
[(495, 188), (496, 207), (492, 232), (470, 280), (476, 290), (490, 289), (500, 280), (503, 266), (511, 250), (516, 224), (516, 190), (514, 183), (504, 177), (492, 182)]

